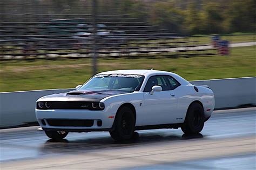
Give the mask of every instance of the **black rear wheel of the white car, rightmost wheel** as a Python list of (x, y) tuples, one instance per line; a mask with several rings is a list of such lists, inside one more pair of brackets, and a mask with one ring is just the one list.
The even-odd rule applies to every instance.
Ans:
[(193, 103), (188, 107), (186, 119), (181, 130), (186, 134), (196, 134), (204, 127), (204, 109), (199, 103)]

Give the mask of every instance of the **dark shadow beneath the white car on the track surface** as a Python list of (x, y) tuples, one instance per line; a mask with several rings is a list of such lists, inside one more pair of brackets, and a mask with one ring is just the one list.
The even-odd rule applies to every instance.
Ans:
[(129, 141), (117, 142), (109, 137), (98, 137), (89, 139), (67, 140), (62, 139), (54, 141), (52, 139), (45, 142), (41, 147), (41, 152), (47, 153), (73, 153), (73, 152), (90, 152), (99, 149), (112, 149), (122, 147), (134, 147), (143, 145), (155, 145), (158, 142), (178, 141), (189, 139), (203, 138), (202, 134), (187, 135), (166, 135), (161, 133), (134, 133), (133, 139)]

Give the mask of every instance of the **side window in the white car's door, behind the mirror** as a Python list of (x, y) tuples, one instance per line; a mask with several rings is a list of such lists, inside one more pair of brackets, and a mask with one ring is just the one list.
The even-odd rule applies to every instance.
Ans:
[(166, 82), (164, 76), (152, 76), (147, 80), (144, 92), (150, 92), (153, 86), (161, 86), (163, 91), (171, 90), (170, 85)]

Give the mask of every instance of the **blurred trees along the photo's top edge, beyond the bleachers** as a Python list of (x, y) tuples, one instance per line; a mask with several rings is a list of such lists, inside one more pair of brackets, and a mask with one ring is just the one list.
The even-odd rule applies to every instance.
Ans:
[[(23, 8), (15, 9), (16, 13), (37, 13), (40, 9), (40, 13), (90, 14), (93, 9), (93, 0), (37, 1), (36, 5), (31, 5), (26, 0), (11, 2), (14, 6), (24, 4)], [(14, 8), (5, 5), (8, 3), (3, 1), (2, 13), (9, 13)], [(136, 21), (147, 21), (149, 25), (156, 24), (169, 32), (187, 35), (255, 32), (255, 11), (255, 0), (98, 0), (97, 5), (97, 13), (100, 15), (129, 14), (130, 17), (138, 18)], [(68, 18), (59, 16), (55, 19)]]

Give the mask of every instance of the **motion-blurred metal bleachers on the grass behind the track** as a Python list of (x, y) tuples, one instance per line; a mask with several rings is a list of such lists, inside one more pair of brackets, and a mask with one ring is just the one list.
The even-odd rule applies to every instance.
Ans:
[[(96, 15), (95, 33), (93, 15), (90, 14), (0, 15), (2, 60), (91, 57), (95, 53), (93, 45), (97, 45), (98, 57), (175, 57), (215, 53), (209, 51), (212, 49), (200, 48), (207, 44), (195, 44), (197, 41), (188, 36), (167, 32), (129, 15)], [(65, 19), (56, 19), (58, 17)]]

